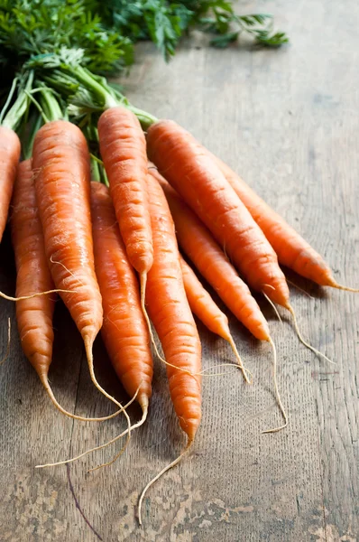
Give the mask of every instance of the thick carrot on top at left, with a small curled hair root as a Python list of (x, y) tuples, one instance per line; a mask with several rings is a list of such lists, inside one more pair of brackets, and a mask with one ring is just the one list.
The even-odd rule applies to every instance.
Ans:
[(47, 123), (33, 145), (36, 201), (51, 276), (85, 343), (102, 326), (102, 301), (95, 275), (87, 142), (67, 121)]

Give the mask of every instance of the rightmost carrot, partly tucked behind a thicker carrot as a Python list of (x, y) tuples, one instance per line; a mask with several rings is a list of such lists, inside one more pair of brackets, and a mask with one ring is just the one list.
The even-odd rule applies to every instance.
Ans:
[(228, 165), (209, 151), (208, 154), (216, 161), (226, 180), (244, 202), (245, 207), (262, 229), (283, 266), (290, 267), (299, 275), (321, 286), (332, 286), (349, 292), (359, 291), (338, 285), (323, 257), (310, 247), (308, 242), (295, 229), (291, 228), (275, 210), (272, 210)]

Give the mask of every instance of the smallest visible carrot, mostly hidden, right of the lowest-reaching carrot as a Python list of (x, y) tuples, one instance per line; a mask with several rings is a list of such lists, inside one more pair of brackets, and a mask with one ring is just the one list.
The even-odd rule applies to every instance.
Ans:
[(180, 266), (182, 269), (183, 284), (185, 286), (189, 307), (192, 313), (196, 314), (201, 322), (205, 324), (210, 332), (216, 333), (223, 339), (229, 342), (232, 350), (235, 352), (235, 357), (238, 360), (240, 369), (244, 374), (244, 379), (250, 382), (247, 376), (247, 369), (244, 369), (241, 357), (235, 346), (235, 341), (231, 335), (228, 325), (228, 318), (225, 313), (222, 313), (220, 308), (213, 301), (206, 288), (200, 283), (198, 277), (189, 266), (189, 264), (180, 257)]

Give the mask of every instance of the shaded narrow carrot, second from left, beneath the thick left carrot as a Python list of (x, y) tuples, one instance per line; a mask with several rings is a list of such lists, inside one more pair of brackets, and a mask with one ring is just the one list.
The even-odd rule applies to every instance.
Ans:
[[(54, 288), (45, 256), (41, 221), (36, 206), (32, 161), (19, 164), (14, 183), (11, 232), (16, 264), (16, 296)], [(51, 365), (52, 316), (56, 294), (23, 299), (16, 303), (16, 320), (23, 352), (41, 380)]]

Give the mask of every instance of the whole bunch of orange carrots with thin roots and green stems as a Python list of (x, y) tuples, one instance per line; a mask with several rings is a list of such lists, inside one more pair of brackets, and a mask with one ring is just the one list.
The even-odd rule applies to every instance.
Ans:
[[(166, 363), (170, 397), (188, 444), (143, 490), (141, 523), (145, 492), (188, 453), (200, 424), (204, 371), (193, 314), (230, 343), (245, 380), (251, 380), (226, 314), (198, 275), (256, 339), (272, 345), (274, 370), (274, 342), (251, 289), (274, 308), (278, 304), (290, 311), (299, 333), (280, 264), (318, 285), (350, 288), (338, 285), (323, 258), (184, 128), (136, 109), (86, 70), (66, 67), (68, 83), (76, 79), (97, 97), (97, 107), (78, 116), (78, 126), (70, 122), (57, 94), (62, 69), (51, 72), (48, 86), (34, 87), (31, 72), (0, 117), (0, 238), (11, 209), (17, 269), (16, 294), (10, 299), (16, 301), (24, 354), (55, 406), (89, 421), (124, 413), (128, 427), (111, 443), (124, 435), (128, 442), (133, 429), (146, 421), (152, 346)], [(30, 133), (19, 128), (25, 125)], [(82, 336), (93, 383), (118, 407), (111, 416), (75, 416), (52, 393), (54, 293)], [(130, 403), (136, 400), (142, 408), (134, 425), (126, 406), (97, 382), (92, 347), (98, 332)], [(304, 341), (300, 333), (299, 338)], [(268, 432), (288, 423), (276, 379), (274, 384), (284, 423)]]

